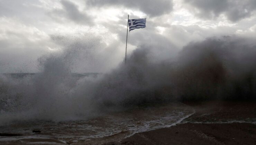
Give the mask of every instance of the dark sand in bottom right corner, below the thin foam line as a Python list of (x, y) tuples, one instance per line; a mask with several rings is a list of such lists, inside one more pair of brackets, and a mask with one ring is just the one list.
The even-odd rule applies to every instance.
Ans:
[(256, 125), (231, 124), (179, 124), (170, 128), (137, 133), (122, 141), (136, 145), (255, 145)]

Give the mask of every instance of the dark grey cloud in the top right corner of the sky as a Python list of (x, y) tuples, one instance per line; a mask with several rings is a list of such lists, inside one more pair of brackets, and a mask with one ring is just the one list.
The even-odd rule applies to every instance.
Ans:
[(224, 14), (231, 21), (248, 18), (256, 10), (255, 0), (184, 0), (190, 10), (204, 19), (213, 19)]

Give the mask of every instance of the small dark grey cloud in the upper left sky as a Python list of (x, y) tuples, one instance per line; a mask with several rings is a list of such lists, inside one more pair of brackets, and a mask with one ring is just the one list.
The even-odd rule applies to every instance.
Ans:
[(49, 13), (49, 16), (56, 20), (62, 20), (63, 18), (67, 20), (72, 20), (76, 23), (83, 23), (91, 25), (92, 18), (86, 13), (79, 11), (78, 6), (68, 0), (61, 0), (62, 9), (54, 9)]

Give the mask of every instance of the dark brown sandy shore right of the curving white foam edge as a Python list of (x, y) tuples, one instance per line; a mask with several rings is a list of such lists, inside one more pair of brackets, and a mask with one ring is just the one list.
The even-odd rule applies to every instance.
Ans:
[[(125, 145), (255, 145), (256, 103), (211, 101), (186, 103), (195, 114), (170, 128), (136, 133), (123, 139)], [(253, 123), (254, 122), (254, 123)]]

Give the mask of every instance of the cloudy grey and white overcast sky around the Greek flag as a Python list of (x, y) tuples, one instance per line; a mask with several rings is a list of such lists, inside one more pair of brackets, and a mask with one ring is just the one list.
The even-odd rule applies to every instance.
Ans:
[(71, 54), (73, 72), (109, 71), (125, 57), (127, 14), (147, 18), (130, 32), (128, 54), (256, 38), (255, 0), (0, 0), (0, 72), (38, 72), (42, 58), (61, 53)]

